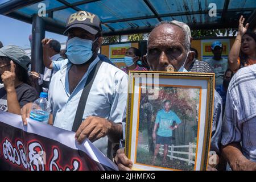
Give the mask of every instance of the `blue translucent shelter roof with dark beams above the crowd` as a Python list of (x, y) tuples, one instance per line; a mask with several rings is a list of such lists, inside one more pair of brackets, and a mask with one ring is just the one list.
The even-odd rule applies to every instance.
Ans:
[(243, 15), (250, 27), (256, 25), (255, 0), (0, 0), (0, 14), (27, 23), (42, 7), (46, 30), (57, 34), (80, 10), (100, 17), (104, 36), (150, 32), (164, 20), (179, 20), (192, 30), (237, 28)]

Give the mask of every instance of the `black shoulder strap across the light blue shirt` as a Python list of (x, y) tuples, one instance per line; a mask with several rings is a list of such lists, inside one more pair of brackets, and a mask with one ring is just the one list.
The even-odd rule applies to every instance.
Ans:
[(84, 115), (84, 109), (85, 109), (88, 95), (90, 93), (90, 88), (92, 88), (94, 78), (97, 75), (97, 72), (101, 66), (101, 63), (102, 63), (101, 60), (98, 61), (98, 63), (94, 66), (93, 70), (89, 73), (89, 76), (88, 76), (85, 86), (84, 86), (84, 90), (82, 90), (82, 94), (81, 94), (81, 97), (79, 100), (79, 105), (77, 106), (77, 110), (76, 110), (75, 120), (74, 120), (73, 127), (72, 127), (72, 131), (74, 131), (74, 132), (76, 132), (77, 129), (79, 129), (79, 126), (82, 123), (82, 116)]

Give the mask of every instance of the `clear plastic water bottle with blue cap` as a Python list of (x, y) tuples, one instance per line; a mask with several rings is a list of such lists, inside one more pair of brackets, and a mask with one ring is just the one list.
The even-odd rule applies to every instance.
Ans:
[(41, 92), (40, 98), (38, 98), (33, 104), (30, 111), (30, 118), (35, 121), (48, 123), (50, 107), (47, 101), (47, 93)]

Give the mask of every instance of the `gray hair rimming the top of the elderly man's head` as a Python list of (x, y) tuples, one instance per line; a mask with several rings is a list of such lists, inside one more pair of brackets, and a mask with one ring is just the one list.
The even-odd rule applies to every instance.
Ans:
[[(191, 31), (190, 31), (190, 28), (187, 24), (183, 23), (183, 22), (179, 22), (177, 20), (172, 20), (171, 22), (168, 22), (168, 21), (163, 21), (163, 22), (160, 22), (158, 24), (156, 24), (155, 28), (156, 27), (159, 27), (160, 25), (162, 24), (171, 24), (171, 25), (175, 25), (177, 27), (180, 27), (181, 30), (184, 32), (185, 34), (185, 40), (184, 40), (184, 47), (185, 47), (185, 50), (186, 51), (189, 51), (190, 50), (190, 47), (191, 47), (191, 42), (190, 42), (190, 39), (191, 39)], [(151, 34), (151, 33), (150, 33)], [(149, 35), (150, 36), (150, 35)], [(147, 43), (148, 44), (148, 43)]]

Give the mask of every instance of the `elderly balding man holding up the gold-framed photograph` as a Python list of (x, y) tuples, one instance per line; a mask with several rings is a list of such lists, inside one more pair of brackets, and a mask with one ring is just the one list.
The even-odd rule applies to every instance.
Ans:
[[(184, 68), (187, 62), (192, 62), (195, 52), (190, 51), (191, 38), (189, 37), (190, 30), (183, 28), (182, 22), (161, 22), (151, 32), (147, 42), (147, 56), (144, 56), (144, 61), (149, 65), (151, 71), (175, 71), (188, 72)], [(184, 24), (184, 23), (183, 23)], [(189, 32), (188, 32), (189, 31)], [(211, 138), (211, 149), (218, 151), (220, 143), (221, 131), (221, 97), (214, 94), (214, 114)], [(125, 133), (123, 131), (123, 133)], [(123, 137), (125, 139), (125, 136)], [(133, 163), (127, 158), (124, 153), (123, 140), (121, 146), (115, 156), (120, 170), (131, 170)], [(216, 170), (208, 165), (209, 170)]]

